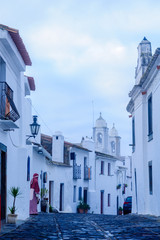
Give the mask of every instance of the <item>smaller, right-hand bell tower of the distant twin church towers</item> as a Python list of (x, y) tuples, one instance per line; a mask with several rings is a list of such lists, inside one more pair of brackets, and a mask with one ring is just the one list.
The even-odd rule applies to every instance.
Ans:
[(121, 137), (118, 136), (118, 131), (115, 128), (115, 124), (113, 123), (113, 127), (109, 132), (109, 152), (111, 155), (115, 157), (120, 157), (121, 155), (120, 143), (121, 143)]

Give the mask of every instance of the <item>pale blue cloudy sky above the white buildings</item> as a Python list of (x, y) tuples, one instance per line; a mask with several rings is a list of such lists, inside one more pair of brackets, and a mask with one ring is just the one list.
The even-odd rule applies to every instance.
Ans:
[(131, 155), (128, 93), (137, 46), (160, 47), (158, 0), (0, 0), (0, 23), (19, 30), (32, 60), (33, 114), (41, 131), (78, 143), (92, 136), (100, 112)]

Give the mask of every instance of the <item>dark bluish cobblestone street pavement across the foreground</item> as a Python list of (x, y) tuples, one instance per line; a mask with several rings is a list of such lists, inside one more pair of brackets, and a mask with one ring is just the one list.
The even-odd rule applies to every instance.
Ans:
[(0, 239), (160, 239), (160, 218), (145, 215), (41, 213), (30, 217)]

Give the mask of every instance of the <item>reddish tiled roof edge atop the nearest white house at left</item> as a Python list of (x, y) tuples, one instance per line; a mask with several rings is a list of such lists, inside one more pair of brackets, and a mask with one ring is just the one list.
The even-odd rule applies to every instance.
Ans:
[(13, 42), (15, 43), (25, 65), (31, 66), (32, 65), (31, 59), (30, 59), (29, 54), (26, 50), (26, 47), (23, 43), (23, 40), (19, 35), (19, 31), (17, 29), (10, 28), (10, 27), (8, 27), (6, 25), (2, 25), (2, 24), (0, 24), (0, 29), (8, 31), (8, 33), (10, 34)]

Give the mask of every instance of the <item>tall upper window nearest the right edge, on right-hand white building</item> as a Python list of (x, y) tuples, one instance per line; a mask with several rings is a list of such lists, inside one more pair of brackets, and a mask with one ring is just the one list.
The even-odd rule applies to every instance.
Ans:
[(152, 95), (148, 98), (148, 141), (153, 139), (153, 126), (152, 126)]

